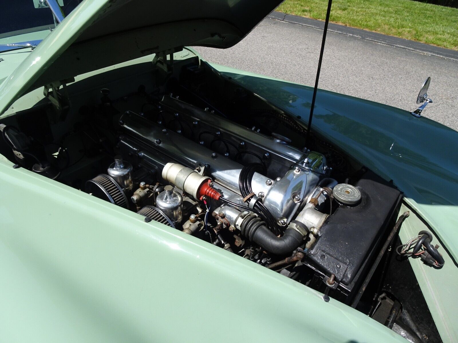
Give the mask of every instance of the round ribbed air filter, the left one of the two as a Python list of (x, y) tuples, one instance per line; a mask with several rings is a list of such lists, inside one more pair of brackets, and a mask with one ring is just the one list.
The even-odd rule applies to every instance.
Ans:
[(106, 174), (100, 174), (92, 180), (86, 181), (85, 188), (86, 193), (94, 197), (109, 201), (125, 209), (129, 207), (127, 197), (120, 185)]

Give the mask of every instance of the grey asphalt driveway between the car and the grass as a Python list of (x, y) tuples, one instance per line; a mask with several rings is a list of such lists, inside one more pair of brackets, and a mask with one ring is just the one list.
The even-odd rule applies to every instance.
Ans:
[[(267, 18), (229, 49), (196, 48), (210, 62), (314, 86), (322, 31)], [(433, 100), (423, 115), (458, 131), (458, 61), (328, 32), (319, 88), (416, 108), (427, 76)]]

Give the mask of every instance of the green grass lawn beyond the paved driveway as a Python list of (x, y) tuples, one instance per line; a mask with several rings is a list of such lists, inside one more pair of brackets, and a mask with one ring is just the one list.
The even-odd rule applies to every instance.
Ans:
[[(324, 20), (327, 0), (286, 0), (277, 11)], [(412, 0), (333, 0), (330, 21), (458, 50), (458, 9)]]

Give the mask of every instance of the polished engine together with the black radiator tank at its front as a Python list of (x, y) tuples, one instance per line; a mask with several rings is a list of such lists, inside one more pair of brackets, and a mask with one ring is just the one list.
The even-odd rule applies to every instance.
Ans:
[[(129, 110), (119, 119), (125, 160), (107, 177), (132, 209), (286, 275), (307, 266), (354, 297), (401, 199), (396, 188), (371, 171), (354, 185), (339, 183), (322, 153), (173, 96), (156, 112), (172, 118), (168, 127), (160, 116)], [(140, 176), (131, 175), (131, 164)], [(96, 195), (94, 182), (87, 192)], [(98, 193), (109, 201), (116, 195)]]

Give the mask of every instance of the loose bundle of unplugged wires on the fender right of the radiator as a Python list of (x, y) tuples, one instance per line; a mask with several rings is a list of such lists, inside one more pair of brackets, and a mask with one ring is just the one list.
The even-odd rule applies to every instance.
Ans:
[(430, 267), (442, 268), (444, 258), (437, 251), (438, 245), (431, 244), (432, 235), (428, 231), (420, 231), (417, 236), (409, 239), (405, 244), (401, 244), (396, 248), (396, 252), (400, 256), (416, 256), (420, 257), (423, 263)]

